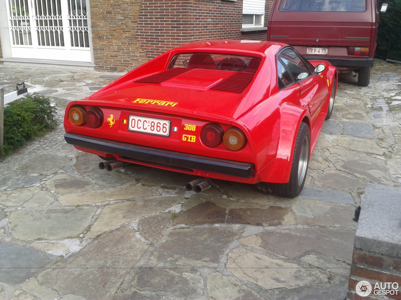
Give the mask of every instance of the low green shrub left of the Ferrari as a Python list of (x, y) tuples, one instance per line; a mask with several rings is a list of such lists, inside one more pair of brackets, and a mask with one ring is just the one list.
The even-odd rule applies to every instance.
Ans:
[(4, 107), (4, 146), (0, 149), (3, 154), (11, 154), (27, 140), (55, 128), (49, 104), (49, 98), (28, 94)]

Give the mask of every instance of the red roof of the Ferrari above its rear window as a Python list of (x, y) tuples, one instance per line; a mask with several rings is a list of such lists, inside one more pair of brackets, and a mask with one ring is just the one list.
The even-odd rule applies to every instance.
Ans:
[(255, 40), (202, 40), (199, 42), (192, 42), (174, 48), (174, 50), (200, 50), (200, 51), (214, 51), (214, 50), (238, 50), (244, 52), (258, 52), (265, 55), (269, 48), (282, 48), (288, 46), (287, 44), (278, 42), (265, 42)]

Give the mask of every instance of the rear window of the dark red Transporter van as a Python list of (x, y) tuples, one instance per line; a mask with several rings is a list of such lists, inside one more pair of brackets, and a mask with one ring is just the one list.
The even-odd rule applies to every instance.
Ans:
[(280, 12), (364, 12), (366, 0), (281, 0)]

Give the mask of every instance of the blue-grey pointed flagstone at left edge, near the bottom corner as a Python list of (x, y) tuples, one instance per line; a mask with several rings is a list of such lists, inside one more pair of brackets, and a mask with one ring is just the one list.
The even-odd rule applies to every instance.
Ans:
[(20, 284), (57, 259), (57, 256), (29, 247), (0, 242), (0, 281)]

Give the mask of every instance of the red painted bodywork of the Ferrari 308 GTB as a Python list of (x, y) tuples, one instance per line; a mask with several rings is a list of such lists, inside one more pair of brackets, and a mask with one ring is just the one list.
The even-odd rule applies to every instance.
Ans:
[[(314, 66), (317, 64), (326, 66), (322, 73), (313, 74), (307, 79), (313, 85), (312, 88), (309, 90), (303, 88), (301, 81), (301, 84), (295, 83), (279, 90), (276, 54), (286, 46), (280, 43), (255, 41), (206, 41), (170, 50), (93, 95), (70, 102), (64, 119), (66, 140), (72, 144), (74, 142), (71, 140), (75, 138), (85, 140), (74, 146), (99, 156), (115, 157), (121, 161), (201, 177), (251, 184), (261, 181), (288, 182), (300, 123), (306, 122), (310, 127), (311, 155), (328, 110), (336, 69), (325, 61), (312, 62)], [(161, 83), (134, 82), (144, 76), (166, 71), (174, 55), (186, 52), (253, 56), (260, 58), (261, 64), (251, 82), (241, 93), (210, 89), (215, 82), (235, 73), (227, 70), (195, 68), (185, 70), (183, 74)], [(315, 95), (318, 95), (320, 100), (316, 103), (318, 107), (312, 118), (309, 103), (316, 99)], [(69, 119), (68, 112), (75, 106), (81, 106), (85, 110), (92, 107), (100, 108), (103, 113), (103, 124), (98, 128), (91, 128), (88, 124), (74, 125)], [(128, 130), (127, 122), (130, 115), (169, 120), (171, 128), (169, 136)], [(203, 127), (211, 123), (221, 126), (224, 132), (233, 126), (239, 128), (245, 134), (247, 143), (237, 151), (229, 150), (223, 143), (215, 147), (206, 146), (201, 140), (200, 133)], [(122, 155), (122, 152), (107, 152), (104, 150), (106, 146), (104, 146), (106, 148), (103, 146), (91, 148), (87, 146), (91, 141), (99, 145), (114, 143), (124, 149), (132, 145), (140, 152), (149, 152), (146, 157), (158, 156), (161, 153), (166, 157), (172, 157), (172, 160), (151, 161), (128, 157)], [(241, 174), (238, 173), (239, 175), (237, 173), (233, 175), (227, 170), (220, 172), (218, 167), (214, 170), (213, 166), (196, 169), (174, 165), (181, 156), (186, 160), (211, 160), (212, 165), (213, 161), (216, 161), (217, 165), (238, 164), (235, 168), (248, 169), (245, 175), (242, 175), (242, 171)]]

